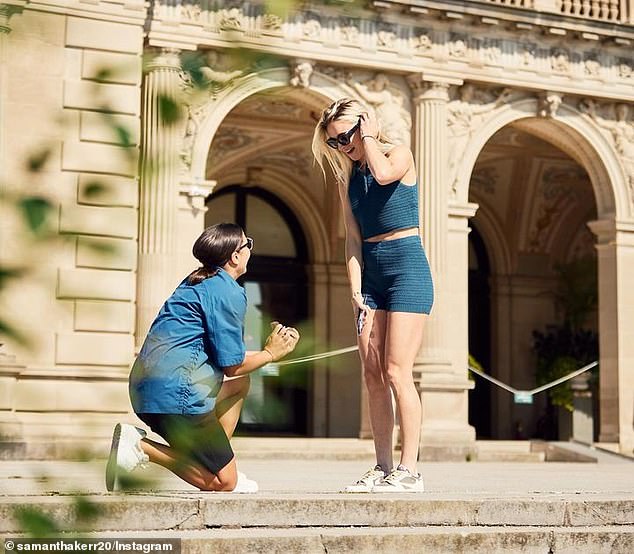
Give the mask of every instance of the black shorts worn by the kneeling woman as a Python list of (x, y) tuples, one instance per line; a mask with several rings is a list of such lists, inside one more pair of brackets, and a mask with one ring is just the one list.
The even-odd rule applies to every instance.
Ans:
[(137, 414), (186, 459), (218, 474), (233, 459), (233, 449), (214, 412)]

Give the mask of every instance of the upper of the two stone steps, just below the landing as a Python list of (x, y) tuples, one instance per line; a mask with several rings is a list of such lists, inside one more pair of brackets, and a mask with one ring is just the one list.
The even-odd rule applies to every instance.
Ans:
[[(597, 495), (598, 496), (598, 495)], [(29, 506), (62, 529), (75, 529), (75, 496), (4, 497), (0, 533), (20, 531), (13, 513)], [(418, 494), (185, 493), (85, 495), (98, 517), (92, 531), (159, 531), (219, 527), (604, 527), (634, 526), (634, 494), (596, 499), (575, 495), (435, 498)], [(633, 550), (634, 551), (634, 550)]]

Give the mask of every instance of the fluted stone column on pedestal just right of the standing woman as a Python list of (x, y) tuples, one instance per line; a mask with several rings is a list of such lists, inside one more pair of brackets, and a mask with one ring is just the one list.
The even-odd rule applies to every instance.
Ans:
[[(435, 288), (434, 308), (425, 323), (423, 345), (414, 367), (423, 404), (420, 458), (464, 460), (473, 450), (475, 440), (475, 431), (468, 424), (467, 409), (467, 390), (472, 385), (467, 379), (467, 357), (459, 361), (454, 352), (464, 354), (468, 350), (465, 344), (468, 336), (454, 333), (453, 328), (457, 323), (464, 325), (465, 322), (459, 319), (466, 320), (468, 308), (465, 305), (460, 313), (453, 314), (451, 298), (456, 294), (456, 298), (466, 298), (464, 291), (452, 290), (452, 281), (453, 285), (466, 287), (468, 266), (458, 263), (450, 271), (447, 264), (450, 238), (446, 177), (448, 89), (462, 81), (427, 74), (410, 76), (408, 81), (413, 91), (420, 229)], [(463, 235), (462, 246), (466, 245), (467, 236), (466, 233)], [(452, 266), (454, 255), (464, 262), (467, 249), (461, 248), (457, 253), (452, 251)], [(465, 272), (464, 278), (455, 278), (456, 272), (461, 271)]]

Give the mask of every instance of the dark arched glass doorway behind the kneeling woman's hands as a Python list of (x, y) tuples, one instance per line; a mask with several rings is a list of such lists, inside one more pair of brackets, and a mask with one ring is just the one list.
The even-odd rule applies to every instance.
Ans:
[[(207, 225), (234, 222), (254, 239), (240, 279), (249, 299), (247, 350), (262, 347), (271, 321), (301, 327), (308, 315), (306, 238), (288, 206), (262, 187), (229, 185), (212, 194), (207, 207)], [(309, 397), (306, 368), (265, 366), (251, 375), (238, 432), (306, 435)]]

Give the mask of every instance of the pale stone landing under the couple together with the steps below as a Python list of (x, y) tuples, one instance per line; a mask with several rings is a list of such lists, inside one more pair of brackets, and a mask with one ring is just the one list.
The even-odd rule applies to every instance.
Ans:
[(107, 494), (103, 460), (3, 462), (0, 544), (25, 531), (16, 514), (26, 510), (58, 534), (180, 539), (185, 554), (634, 553), (631, 460), (596, 452), (595, 463), (529, 462), (525, 446), (498, 444), (516, 463), (425, 463), (429, 492), (338, 493), (364, 469), (367, 449), (236, 440), (240, 468), (261, 486), (253, 495), (201, 493), (157, 466), (136, 491)]

